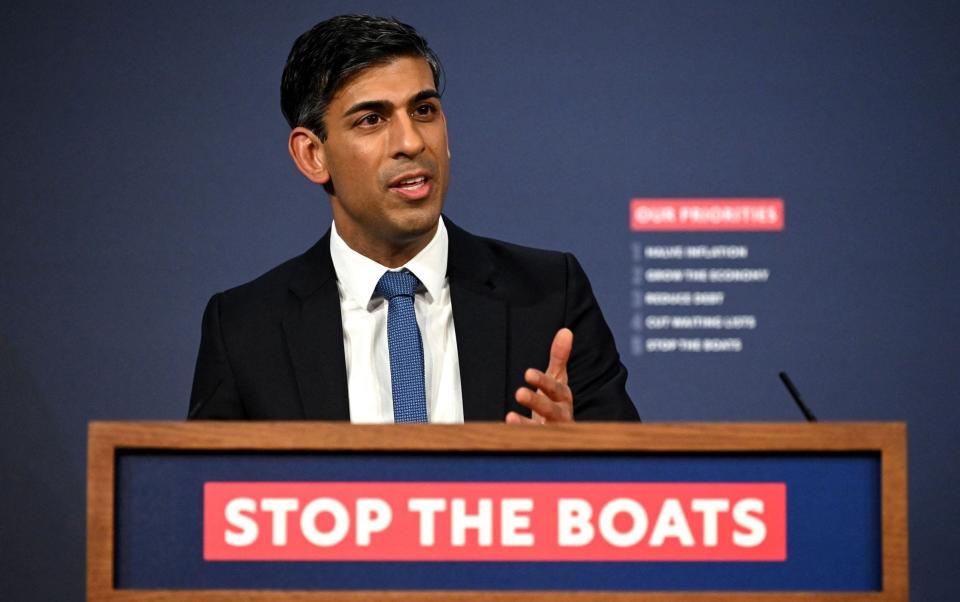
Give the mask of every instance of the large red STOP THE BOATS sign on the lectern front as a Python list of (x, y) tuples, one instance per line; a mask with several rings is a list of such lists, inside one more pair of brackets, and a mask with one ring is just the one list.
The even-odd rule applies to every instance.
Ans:
[(784, 483), (208, 482), (206, 560), (783, 561)]

